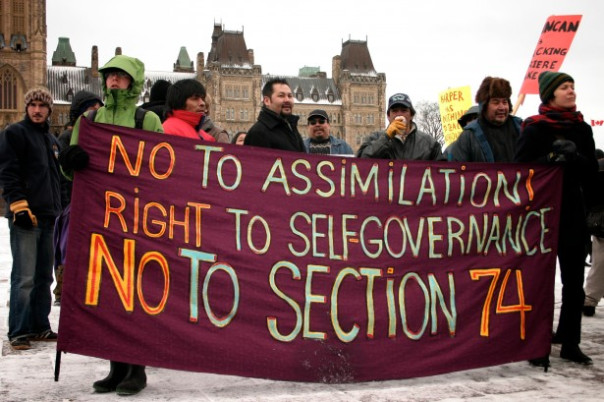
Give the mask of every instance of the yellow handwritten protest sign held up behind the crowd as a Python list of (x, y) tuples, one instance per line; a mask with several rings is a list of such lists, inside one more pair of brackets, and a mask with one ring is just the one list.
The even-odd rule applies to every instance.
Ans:
[(470, 86), (449, 88), (438, 94), (440, 121), (443, 127), (445, 144), (450, 145), (463, 131), (457, 120), (472, 107)]

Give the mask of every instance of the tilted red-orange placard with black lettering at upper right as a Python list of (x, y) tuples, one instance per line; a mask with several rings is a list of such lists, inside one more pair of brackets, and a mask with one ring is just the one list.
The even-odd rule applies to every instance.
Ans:
[(533, 58), (524, 76), (520, 94), (539, 93), (539, 74), (543, 71), (559, 71), (575, 33), (581, 23), (581, 15), (552, 15), (541, 30)]

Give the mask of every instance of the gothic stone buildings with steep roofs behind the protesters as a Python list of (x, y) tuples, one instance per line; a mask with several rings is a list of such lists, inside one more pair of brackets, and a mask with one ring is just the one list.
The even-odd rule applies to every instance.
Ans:
[[(69, 38), (59, 38), (46, 63), (46, 1), (0, 0), (0, 128), (23, 118), (23, 95), (28, 88), (46, 85), (55, 99), (52, 130), (60, 133), (68, 121), (69, 106), (82, 89), (101, 95), (98, 50), (92, 46), (90, 67), (77, 66)], [(207, 58), (198, 53), (191, 61), (180, 48), (170, 71), (146, 71), (140, 102), (149, 97), (158, 79), (175, 82), (195, 78), (211, 95), (210, 116), (229, 133), (248, 130), (262, 107), (262, 86), (273, 78), (262, 74), (248, 49), (243, 31), (224, 30), (214, 24)], [(121, 49), (116, 48), (116, 54)], [(135, 56), (135, 54), (131, 54)], [(144, 62), (144, 60), (142, 60)], [(386, 113), (386, 76), (376, 72), (367, 41), (348, 40), (332, 59), (332, 77), (316, 67), (304, 67), (298, 76), (280, 76), (290, 83), (296, 97), (294, 113), (299, 130), (306, 133), (306, 117), (313, 109), (330, 116), (332, 134), (357, 149), (363, 138), (382, 128)]]

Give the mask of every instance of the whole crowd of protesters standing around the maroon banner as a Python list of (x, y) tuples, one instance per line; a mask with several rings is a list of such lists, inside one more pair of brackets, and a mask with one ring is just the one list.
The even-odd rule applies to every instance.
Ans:
[[(78, 145), (81, 119), (144, 129), (149, 135), (166, 133), (197, 141), (232, 143), (314, 155), (340, 155), (395, 160), (453, 162), (529, 162), (563, 167), (562, 213), (558, 259), (562, 279), (562, 308), (552, 343), (562, 345), (560, 357), (579, 364), (592, 360), (579, 348), (582, 314), (595, 314), (604, 295), (604, 240), (594, 238), (593, 274), (589, 293), (583, 290), (586, 243), (585, 224), (590, 208), (603, 205), (602, 181), (591, 127), (577, 110), (574, 79), (562, 72), (539, 76), (541, 105), (538, 114), (524, 121), (511, 115), (510, 83), (486, 77), (475, 96), (477, 102), (460, 119), (463, 132), (443, 152), (441, 144), (413, 121), (410, 97), (396, 93), (388, 100), (388, 126), (370, 134), (354, 154), (344, 140), (331, 133), (330, 116), (322, 109), (307, 118), (307, 136), (298, 131), (294, 95), (287, 80), (268, 81), (262, 89), (262, 108), (247, 132), (231, 138), (209, 118), (211, 99), (194, 79), (170, 84), (159, 80), (149, 103), (137, 106), (143, 86), (144, 65), (118, 55), (99, 69), (102, 99), (82, 91), (74, 97), (70, 123), (59, 139), (49, 133), (53, 98), (46, 88), (25, 95), (25, 117), (0, 135), (0, 186), (8, 206), (13, 257), (8, 338), (14, 350), (27, 350), (32, 341), (56, 341), (49, 323), (51, 285), (55, 277), (55, 303), (60, 304), (65, 267), (71, 178), (85, 169), (88, 154)], [(602, 166), (604, 164), (601, 163)], [(601, 168), (604, 170), (604, 168)], [(131, 340), (134, 342), (135, 340)], [(530, 361), (548, 367), (549, 355)], [(133, 395), (146, 386), (145, 367), (111, 361), (106, 378), (96, 381), (96, 392)]]

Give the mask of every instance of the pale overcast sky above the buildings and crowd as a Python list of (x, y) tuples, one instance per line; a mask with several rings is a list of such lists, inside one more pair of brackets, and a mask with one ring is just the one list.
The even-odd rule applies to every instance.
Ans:
[[(583, 16), (561, 71), (575, 78), (586, 120), (604, 120), (604, 2), (596, 0), (419, 0), (369, 2), (273, 0), (103, 0), (94, 7), (47, 0), (48, 60), (59, 37), (70, 38), (79, 66), (91, 48), (103, 65), (117, 46), (149, 71), (172, 71), (181, 46), (195, 60), (210, 50), (214, 22), (243, 30), (263, 74), (295, 76), (304, 66), (331, 77), (331, 63), (348, 39), (368, 41), (376, 71), (386, 74), (386, 95), (407, 93), (414, 103), (469, 85), (474, 95), (487, 76), (506, 78), (512, 103), (550, 15)], [(537, 113), (529, 95), (517, 112)], [(604, 147), (604, 127), (594, 127)]]

